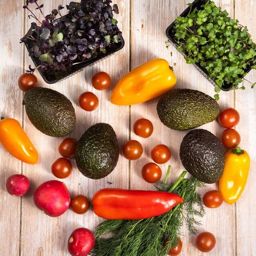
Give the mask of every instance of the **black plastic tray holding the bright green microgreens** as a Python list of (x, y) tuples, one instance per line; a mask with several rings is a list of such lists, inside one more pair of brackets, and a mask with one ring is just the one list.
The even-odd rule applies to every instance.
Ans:
[[(192, 8), (188, 7), (185, 11), (183, 11), (180, 16), (181, 17), (186, 17), (189, 14), (189, 11), (191, 9), (191, 11), (193, 11), (195, 8), (197, 8), (198, 10), (202, 10), (203, 8), (201, 7), (202, 4), (205, 4), (207, 2), (207, 0), (195, 0), (194, 2), (192, 2)], [(211, 1), (210, 1), (211, 2)], [(175, 19), (176, 20), (176, 19)], [(175, 25), (175, 21), (166, 29), (166, 36), (171, 40), (171, 42), (176, 46), (176, 42), (174, 40), (174, 33), (173, 33), (173, 27)], [(182, 52), (183, 55), (187, 55), (186, 52)], [(198, 63), (193, 63), (196, 67), (198, 67), (198, 70), (200, 71), (201, 74), (203, 74), (206, 78), (209, 75), (207, 70), (204, 67), (201, 67)], [(248, 67), (245, 72), (249, 72), (251, 70), (250, 67)], [(241, 76), (242, 78), (243, 76)], [(208, 78), (207, 78), (208, 79)], [(208, 79), (213, 85), (216, 85), (216, 83), (212, 80), (212, 79)], [(216, 85), (218, 86), (218, 85)], [(220, 87), (220, 89), (222, 91), (229, 91), (231, 88), (233, 87), (232, 84), (227, 83), (226, 81), (224, 81), (224, 84), (222, 85), (222, 87)]]

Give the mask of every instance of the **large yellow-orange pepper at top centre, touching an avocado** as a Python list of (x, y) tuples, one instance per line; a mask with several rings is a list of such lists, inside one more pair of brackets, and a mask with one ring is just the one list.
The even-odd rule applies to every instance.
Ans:
[(177, 78), (168, 62), (155, 59), (135, 68), (115, 86), (110, 101), (115, 105), (133, 105), (168, 92)]

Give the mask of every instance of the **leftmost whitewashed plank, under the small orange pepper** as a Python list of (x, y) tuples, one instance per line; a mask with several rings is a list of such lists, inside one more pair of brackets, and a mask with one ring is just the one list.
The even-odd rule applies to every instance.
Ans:
[[(1, 62), (0, 62), (0, 116), (17, 119), (22, 125), (22, 91), (17, 81), (23, 73), (23, 9), (9, 1), (0, 2)], [(15, 15), (13, 16), (13, 13)], [(22, 172), (22, 163), (0, 145), (0, 255), (18, 255), (20, 241), (20, 197), (7, 193), (5, 183), (10, 175)], [(15, 243), (13, 243), (15, 241)]]

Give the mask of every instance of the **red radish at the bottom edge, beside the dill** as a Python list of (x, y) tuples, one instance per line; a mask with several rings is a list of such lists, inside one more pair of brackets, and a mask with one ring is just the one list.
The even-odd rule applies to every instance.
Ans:
[(67, 242), (67, 249), (72, 256), (87, 256), (94, 246), (92, 231), (83, 227), (75, 229)]

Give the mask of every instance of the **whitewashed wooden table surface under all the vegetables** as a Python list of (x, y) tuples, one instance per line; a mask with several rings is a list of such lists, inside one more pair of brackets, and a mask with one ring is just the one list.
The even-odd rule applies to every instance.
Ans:
[[(39, 1), (42, 2), (42, 1)], [(113, 0), (119, 6), (119, 29), (123, 32), (125, 46), (114, 55), (88, 67), (82, 72), (54, 85), (43, 82), (39, 73), (39, 85), (52, 88), (63, 93), (73, 103), (76, 111), (76, 126), (70, 137), (79, 139), (83, 132), (92, 124), (106, 122), (117, 133), (119, 146), (128, 139), (137, 139), (144, 147), (144, 153), (137, 161), (129, 162), (120, 152), (119, 162), (115, 170), (101, 180), (90, 180), (84, 177), (76, 168), (72, 159), (73, 172), (64, 180), (71, 196), (78, 193), (88, 196), (105, 187), (124, 189), (154, 189), (153, 184), (146, 183), (140, 175), (141, 167), (151, 162), (150, 150), (157, 144), (166, 144), (171, 148), (172, 166), (168, 182), (177, 179), (184, 170), (179, 148), (186, 131), (170, 130), (157, 117), (157, 99), (135, 106), (115, 106), (110, 103), (110, 94), (117, 81), (135, 67), (153, 58), (164, 58), (174, 67), (177, 76), (175, 88), (192, 88), (207, 93), (213, 97), (214, 88), (193, 65), (186, 64), (183, 56), (171, 45), (165, 47), (167, 40), (165, 30), (168, 25), (186, 8), (188, 0)], [(45, 1), (44, 11), (50, 11), (58, 4), (68, 4), (68, 0)], [(30, 27), (28, 13), (22, 9), (23, 1), (1, 1), (1, 61), (0, 61), (0, 114), (4, 117), (17, 119), (32, 143), (38, 149), (39, 161), (36, 165), (20, 162), (0, 146), (0, 256), (62, 256), (67, 252), (67, 239), (71, 232), (78, 227), (91, 230), (102, 219), (90, 209), (84, 215), (76, 215), (68, 210), (58, 218), (51, 218), (39, 211), (33, 203), (33, 193), (36, 187), (47, 181), (56, 180), (51, 173), (51, 165), (61, 157), (58, 145), (63, 138), (44, 135), (31, 124), (22, 106), (24, 94), (19, 90), (17, 81), (20, 74), (25, 72), (31, 63), (24, 44), (20, 38)], [(247, 25), (252, 39), (256, 41), (256, 1), (255, 0), (218, 0), (222, 9), (226, 9), (232, 18)], [(64, 13), (65, 9), (63, 9)], [(33, 20), (34, 21), (34, 20)], [(108, 90), (97, 91), (91, 85), (92, 75), (105, 71), (112, 77), (112, 85)], [(255, 70), (246, 77), (255, 82)], [(200, 231), (209, 231), (216, 236), (216, 247), (208, 254), (203, 254), (195, 247), (196, 236), (189, 236), (184, 225), (182, 256), (255, 256), (256, 241), (256, 200), (255, 200), (255, 143), (256, 143), (256, 89), (252, 90), (245, 83), (246, 90), (221, 92), (221, 109), (233, 107), (240, 113), (240, 123), (236, 130), (241, 135), (240, 146), (251, 156), (251, 168), (247, 186), (238, 202), (233, 205), (223, 203), (217, 209), (206, 209)], [(99, 107), (93, 112), (85, 112), (78, 105), (78, 97), (85, 91), (94, 92), (99, 97)], [(154, 133), (148, 139), (137, 137), (132, 132), (133, 123), (141, 118), (153, 122)], [(224, 130), (217, 121), (202, 126), (216, 136)], [(69, 137), (69, 136), (67, 136)], [(163, 177), (168, 164), (161, 165)], [(7, 177), (15, 173), (26, 175), (31, 181), (31, 189), (23, 197), (13, 197), (5, 189)], [(112, 182), (112, 185), (107, 182)], [(211, 189), (218, 189), (217, 184), (208, 185), (201, 194)]]

